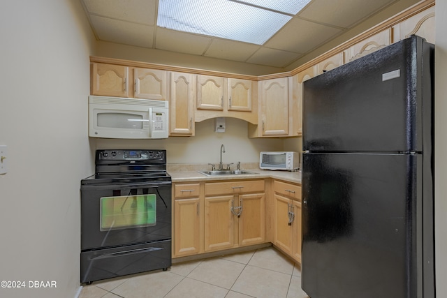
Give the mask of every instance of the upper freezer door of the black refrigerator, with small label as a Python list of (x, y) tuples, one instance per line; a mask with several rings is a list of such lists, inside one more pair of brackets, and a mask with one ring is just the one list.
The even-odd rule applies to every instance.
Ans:
[(423, 73), (430, 51), (413, 36), (307, 80), (303, 150), (423, 151), (422, 129), (430, 133), (432, 121), (430, 71)]

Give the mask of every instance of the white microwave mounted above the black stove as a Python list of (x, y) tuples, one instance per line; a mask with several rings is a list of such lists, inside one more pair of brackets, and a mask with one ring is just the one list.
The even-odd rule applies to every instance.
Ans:
[(116, 139), (168, 137), (166, 100), (89, 96), (89, 136)]

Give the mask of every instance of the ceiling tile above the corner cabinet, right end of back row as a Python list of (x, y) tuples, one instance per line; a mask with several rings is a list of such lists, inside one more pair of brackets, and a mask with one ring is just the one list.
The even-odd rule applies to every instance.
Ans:
[(301, 55), (292, 52), (269, 49), (262, 47), (250, 59), (248, 63), (261, 64), (266, 66), (283, 67), (291, 64), (292, 61), (298, 59)]

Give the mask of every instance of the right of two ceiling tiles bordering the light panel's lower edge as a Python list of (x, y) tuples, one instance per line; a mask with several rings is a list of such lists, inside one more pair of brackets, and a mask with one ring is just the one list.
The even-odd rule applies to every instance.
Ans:
[(205, 56), (219, 59), (246, 61), (259, 49), (259, 45), (214, 38)]

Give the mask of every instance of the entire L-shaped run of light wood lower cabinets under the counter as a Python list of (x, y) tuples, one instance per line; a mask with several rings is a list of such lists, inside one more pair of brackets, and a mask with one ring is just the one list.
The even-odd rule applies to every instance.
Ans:
[[(301, 262), (301, 186), (279, 180), (272, 186), (266, 198), (264, 179), (173, 184), (173, 257), (273, 241)], [(274, 210), (265, 210), (265, 200)], [(265, 237), (266, 212), (273, 214), (272, 239)]]

